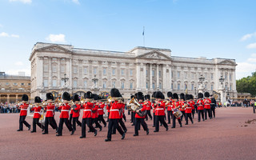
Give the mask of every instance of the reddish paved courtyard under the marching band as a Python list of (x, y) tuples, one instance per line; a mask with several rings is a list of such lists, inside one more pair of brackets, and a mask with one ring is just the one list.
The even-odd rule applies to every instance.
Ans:
[[(52, 128), (47, 135), (38, 128), (31, 134), (26, 127), (16, 131), (18, 114), (0, 114), (0, 159), (255, 159), (256, 114), (252, 108), (218, 108), (216, 112), (214, 119), (198, 122), (195, 114), (193, 125), (185, 126), (183, 120), (182, 128), (177, 122), (175, 129), (169, 125), (166, 131), (162, 126), (158, 133), (153, 132), (153, 122), (147, 121), (150, 134), (139, 130), (138, 137), (133, 136), (134, 126), (126, 114), (126, 138), (121, 140), (117, 132), (112, 142), (104, 142), (107, 127), (96, 137), (86, 133), (83, 139), (79, 126), (74, 135), (65, 125), (62, 137), (56, 137)], [(32, 124), (32, 118), (26, 120)]]

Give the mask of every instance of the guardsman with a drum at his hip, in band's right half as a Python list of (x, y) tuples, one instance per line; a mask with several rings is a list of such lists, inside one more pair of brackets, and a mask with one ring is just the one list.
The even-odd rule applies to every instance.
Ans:
[[(176, 119), (178, 119), (178, 123), (180, 125), (180, 127), (182, 127), (182, 121), (181, 121), (181, 118), (180, 116), (178, 116), (178, 114), (176, 112), (178, 112), (178, 108), (181, 107), (181, 103), (178, 102), (178, 94), (174, 93), (173, 94), (173, 97), (174, 97), (174, 101), (172, 102), (172, 111), (173, 111), (173, 126), (171, 128), (175, 128), (176, 126)], [(178, 116), (178, 118), (176, 118), (176, 116)]]

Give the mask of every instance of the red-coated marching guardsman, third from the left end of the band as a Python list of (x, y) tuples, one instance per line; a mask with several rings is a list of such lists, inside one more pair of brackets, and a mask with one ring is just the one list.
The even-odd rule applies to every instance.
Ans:
[(53, 94), (47, 93), (46, 94), (47, 106), (45, 107), (45, 110), (46, 110), (45, 132), (43, 132), (42, 134), (48, 134), (49, 124), (54, 130), (56, 130), (56, 133), (57, 133), (57, 130), (58, 130), (57, 123), (54, 119), (54, 108), (55, 108), (55, 106), (53, 105), (53, 100), (54, 100)]

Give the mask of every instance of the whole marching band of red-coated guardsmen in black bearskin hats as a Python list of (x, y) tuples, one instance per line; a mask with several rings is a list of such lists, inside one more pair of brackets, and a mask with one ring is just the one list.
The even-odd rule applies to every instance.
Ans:
[[(138, 92), (130, 97), (130, 101), (124, 102), (122, 94), (119, 90), (114, 88), (110, 90), (110, 97), (102, 99), (98, 94), (92, 94), (90, 91), (84, 94), (82, 100), (78, 94), (74, 94), (72, 99), (70, 94), (64, 92), (62, 94), (62, 102), (54, 103), (54, 96), (51, 93), (46, 94), (46, 101), (42, 102), (42, 99), (38, 96), (34, 98), (34, 104), (29, 107), (28, 96), (24, 94), (22, 96), (22, 104), (19, 106), (21, 109), (19, 129), (23, 130), (23, 124), (25, 124), (30, 130), (30, 124), (26, 122), (27, 110), (34, 112), (33, 116), (33, 130), (31, 133), (36, 132), (36, 126), (44, 131), (42, 134), (49, 134), (49, 125), (56, 130), (56, 136), (62, 136), (63, 124), (66, 124), (67, 129), (74, 134), (77, 125), (82, 127), (82, 136), (80, 138), (86, 138), (86, 126), (89, 127), (90, 132), (94, 133), (94, 136), (98, 134), (95, 128), (102, 130), (102, 126), (99, 122), (102, 122), (106, 126), (106, 121), (103, 117), (104, 110), (109, 113), (108, 118), (108, 131), (106, 135), (106, 142), (112, 140), (112, 134), (115, 134), (115, 130), (121, 135), (121, 139), (124, 139), (127, 133), (125, 122), (123, 122), (123, 116), (126, 107), (131, 111), (131, 122), (134, 124), (134, 136), (138, 136), (140, 126), (149, 134), (150, 128), (146, 124), (147, 121), (153, 120), (154, 132), (159, 132), (160, 123), (165, 127), (166, 131), (169, 130), (168, 124), (172, 123), (171, 128), (176, 127), (176, 119), (180, 127), (182, 127), (182, 118), (185, 118), (185, 125), (194, 124), (194, 110), (198, 109), (198, 122), (205, 121), (208, 117), (215, 117), (216, 101), (212, 95), (208, 92), (205, 94), (199, 93), (198, 99), (195, 100), (192, 94), (172, 94), (167, 92), (167, 98), (161, 91), (153, 92), (151, 98), (150, 94), (143, 95), (142, 92)], [(59, 116), (59, 125), (54, 119), (55, 106), (61, 112)], [(153, 109), (153, 117), (151, 116), (151, 108)], [(82, 123), (79, 122), (80, 110), (82, 110)], [(44, 111), (46, 115), (44, 115)], [(165, 121), (165, 115), (167, 115), (168, 123)], [(72, 116), (72, 125), (69, 120), (69, 116)], [(172, 118), (172, 122), (170, 121)], [(40, 120), (39, 120), (40, 119)], [(95, 127), (93, 126), (95, 124)], [(160, 130), (161, 131), (161, 130)]]

